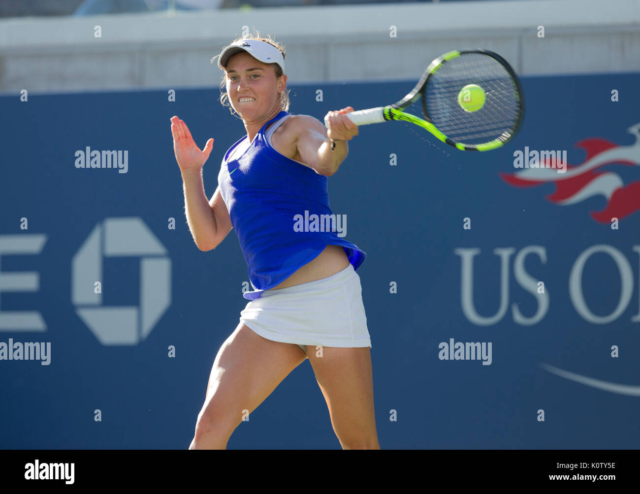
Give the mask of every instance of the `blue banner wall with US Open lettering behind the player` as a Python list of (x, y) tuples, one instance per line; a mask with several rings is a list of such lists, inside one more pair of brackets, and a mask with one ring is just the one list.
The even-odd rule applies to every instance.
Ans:
[[(414, 83), (291, 86), (290, 111), (322, 121), (394, 102)], [(358, 275), (383, 449), (637, 447), (639, 83), (525, 78), (524, 125), (492, 152), (460, 152), (404, 122), (360, 127), (329, 193), (345, 238), (367, 252)], [(1, 448), (189, 446), (248, 274), (234, 230), (215, 250), (196, 248), (169, 119), (201, 148), (215, 139), (211, 197), (245, 133), (218, 97), (0, 98), (0, 342), (51, 344), (49, 365), (0, 360)], [(86, 147), (126, 150), (126, 173), (76, 168)], [(525, 177), (514, 166), (525, 148), (566, 150), (572, 179)], [(486, 354), (491, 344), (491, 359), (456, 358), (457, 342)], [(340, 448), (308, 361), (228, 447)]]

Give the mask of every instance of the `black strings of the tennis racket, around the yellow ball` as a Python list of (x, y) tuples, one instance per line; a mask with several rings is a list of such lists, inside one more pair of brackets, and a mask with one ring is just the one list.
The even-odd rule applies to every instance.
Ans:
[[(477, 111), (465, 111), (458, 102), (468, 84), (484, 91), (484, 106)], [(483, 53), (463, 53), (446, 61), (429, 77), (423, 98), (425, 116), (445, 136), (463, 144), (506, 139), (520, 119), (520, 97), (511, 74)]]

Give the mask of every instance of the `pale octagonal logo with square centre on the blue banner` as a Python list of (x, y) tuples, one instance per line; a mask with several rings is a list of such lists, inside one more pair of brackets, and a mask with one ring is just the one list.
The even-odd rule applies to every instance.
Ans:
[[(140, 307), (104, 307), (105, 257), (140, 257)], [(72, 260), (72, 303), (76, 314), (103, 345), (136, 345), (146, 339), (171, 303), (171, 259), (140, 218), (98, 223)]]

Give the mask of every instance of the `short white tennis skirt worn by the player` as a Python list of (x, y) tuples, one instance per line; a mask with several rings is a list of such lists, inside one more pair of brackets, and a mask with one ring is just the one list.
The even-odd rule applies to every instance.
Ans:
[(349, 264), (335, 275), (292, 287), (265, 290), (240, 313), (261, 337), (306, 345), (370, 347), (360, 276)]

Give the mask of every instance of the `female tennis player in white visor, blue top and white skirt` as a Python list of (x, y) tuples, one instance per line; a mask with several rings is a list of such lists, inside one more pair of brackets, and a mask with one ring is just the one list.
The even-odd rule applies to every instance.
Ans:
[(327, 177), (344, 161), (358, 127), (344, 115), (351, 107), (329, 112), (328, 129), (312, 116), (289, 113), (284, 58), (284, 46), (259, 35), (232, 42), (218, 56), (227, 91), (220, 100), (228, 98), (246, 136), (225, 153), (211, 200), (202, 166), (214, 139), (201, 151), (186, 124), (171, 119), (193, 239), (200, 250), (212, 250), (235, 228), (253, 287), (216, 355), (189, 449), (226, 449), (243, 417), (307, 358), (342, 448), (380, 449), (371, 339), (355, 272), (366, 254), (339, 237), (335, 225), (307, 228), (300, 221), (332, 214)]

